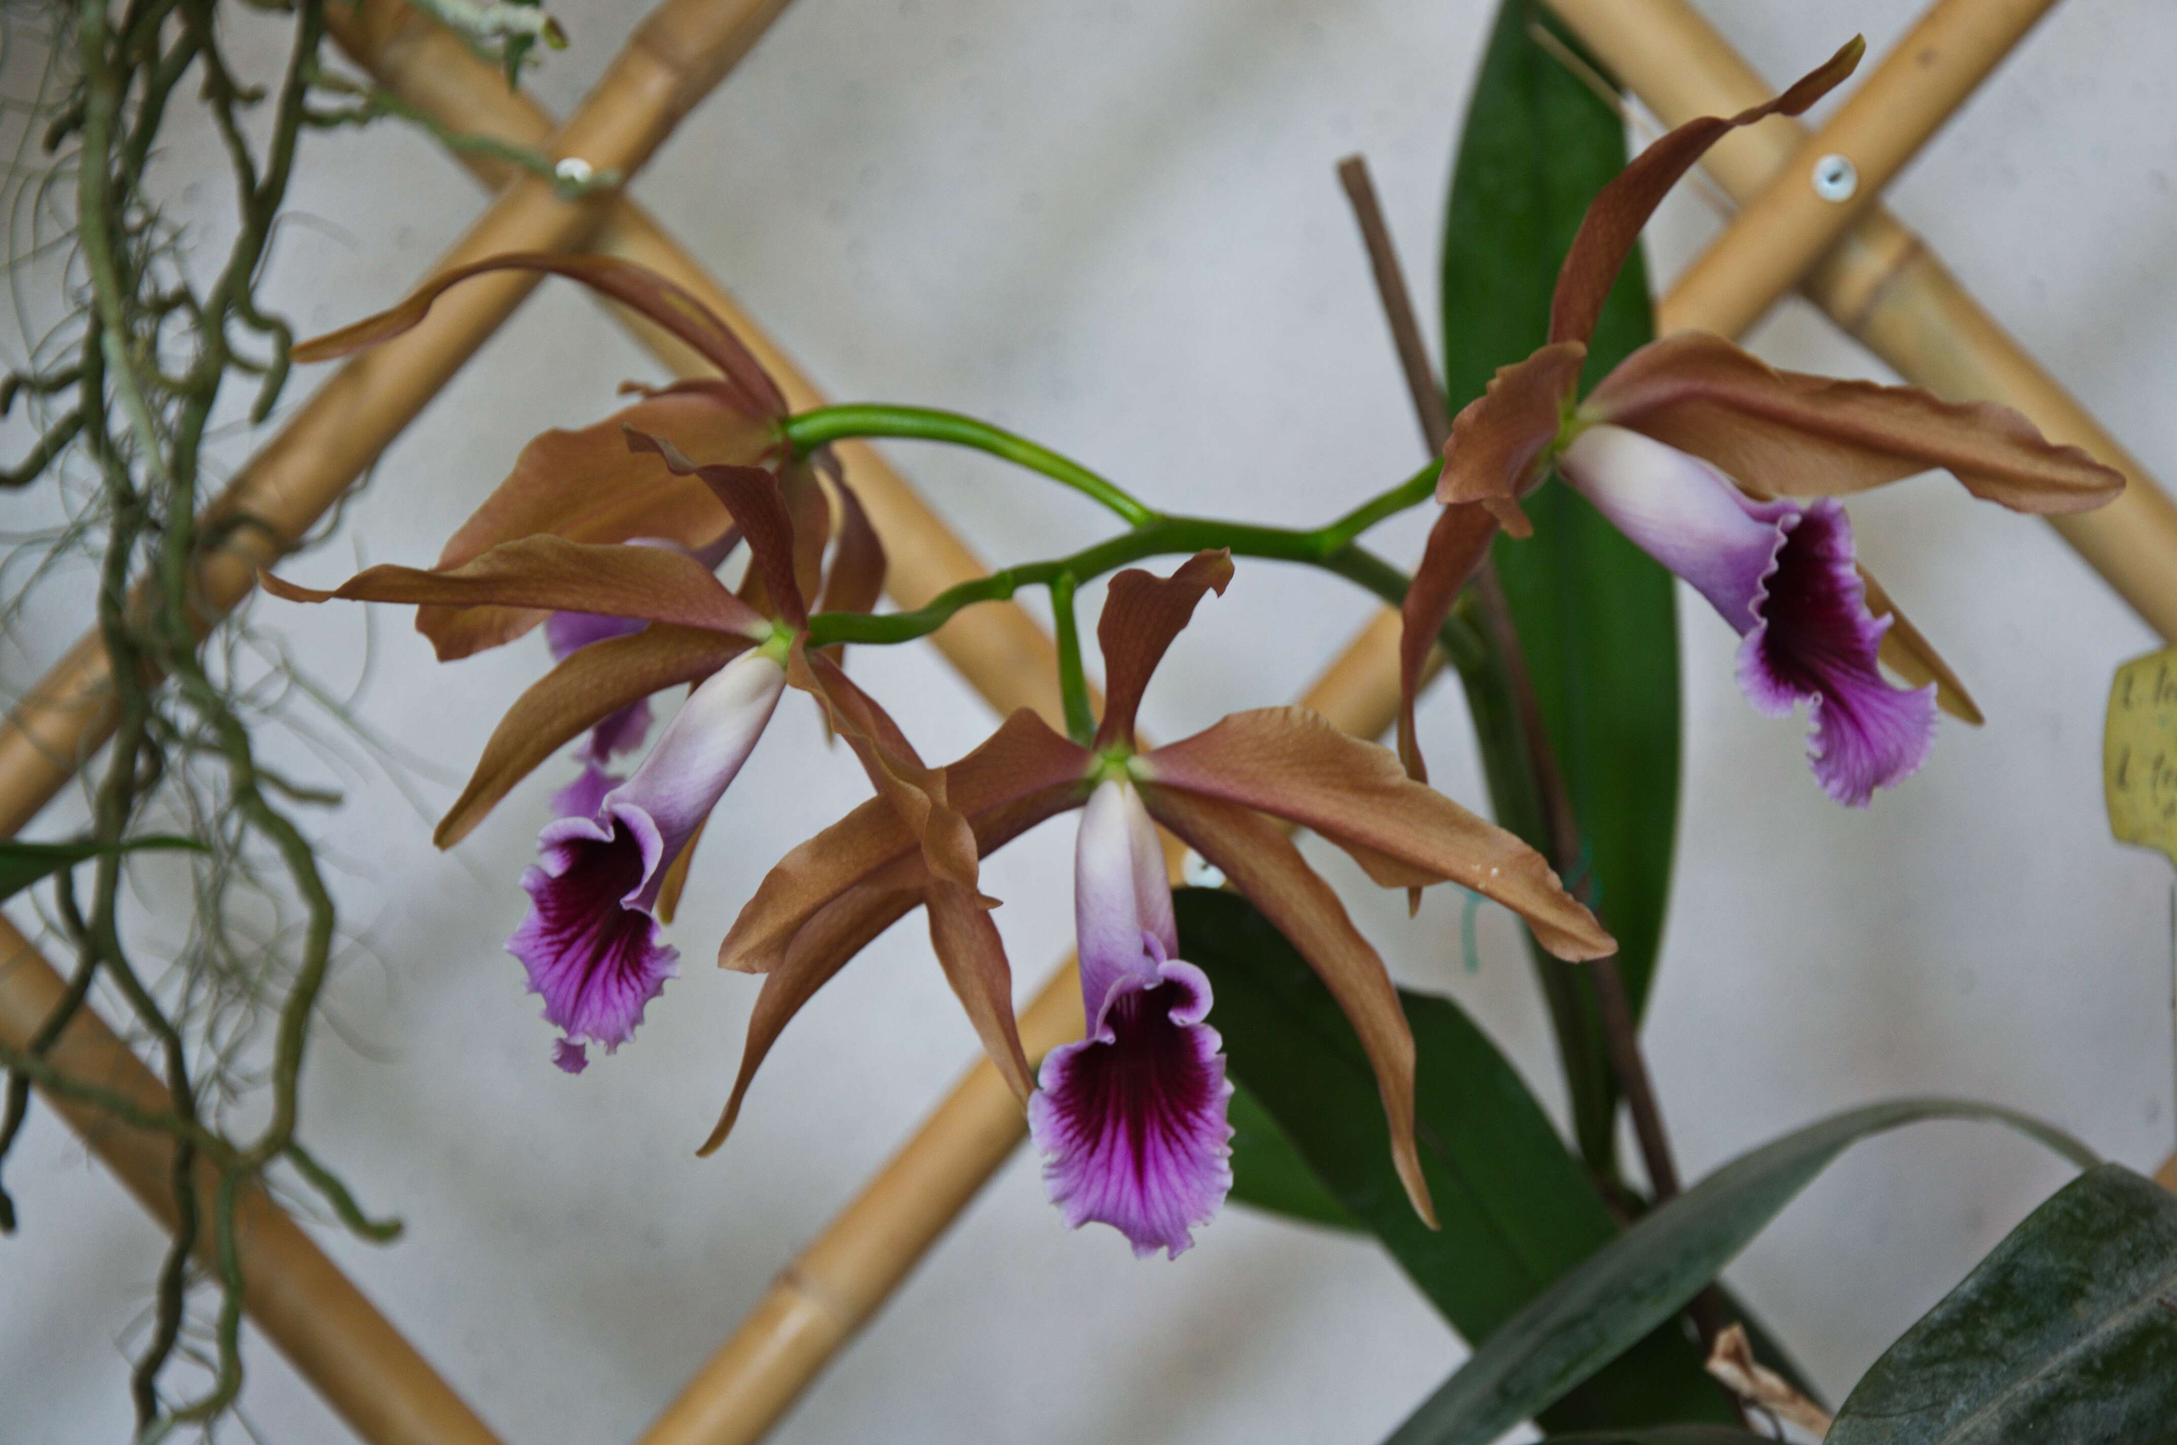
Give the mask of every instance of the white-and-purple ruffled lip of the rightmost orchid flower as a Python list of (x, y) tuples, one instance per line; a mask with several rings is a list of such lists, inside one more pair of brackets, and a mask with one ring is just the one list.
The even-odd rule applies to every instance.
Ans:
[(1581, 431), (1559, 470), (1731, 622), (1739, 688), (1759, 712), (1807, 703), (1807, 757), (1829, 796), (1866, 807), (1927, 762), (1935, 688), (1883, 679), (1890, 618), (1868, 612), (1835, 498), (1755, 501), (1707, 461), (1611, 424)]

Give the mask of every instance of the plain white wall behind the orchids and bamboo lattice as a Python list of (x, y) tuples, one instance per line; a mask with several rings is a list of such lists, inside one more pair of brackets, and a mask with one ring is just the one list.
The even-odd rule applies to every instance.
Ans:
[[(575, 48), (538, 89), (564, 111), (638, 7), (557, 9)], [(1367, 152), (1432, 305), (1448, 157), (1491, 9), (801, 0), (634, 189), (842, 398), (962, 407), (1149, 498), (1308, 522), (1417, 461), (1332, 163)], [(1881, 54), (1918, 4), (1709, 9), (1785, 78), (1855, 28)], [(1894, 187), (1996, 316), (2168, 479), (2173, 48), (2168, 7), (2075, 0)], [(176, 168), (209, 165), (196, 144), (176, 137)], [(207, 235), (224, 205), (216, 189), (176, 196)], [(316, 137), (294, 194), (316, 220), (283, 235), (274, 289), (305, 331), (346, 322), (398, 298), (481, 205), (418, 135)], [(1698, 196), (1676, 198), (1650, 231), (1657, 276), (1715, 224)], [(1879, 374), (1798, 302), (1752, 344), (1785, 366)], [(625, 376), (655, 368), (586, 298), (544, 287), (292, 575), (433, 557), (525, 437), (601, 416)], [(991, 559), (1104, 527), (977, 457), (895, 455)], [(37, 505), (11, 498), (9, 516), (30, 524)], [(1946, 725), (1922, 775), (1872, 812), (1837, 810), (1798, 725), (1744, 705), (1733, 638), (1689, 598), (1678, 881), (1646, 1034), (1683, 1166), (1698, 1175), (1833, 1108), (1942, 1090), (2040, 1112), (2151, 1169), (2173, 1143), (2170, 877), (2110, 842), (2099, 738), (2110, 670), (2153, 638), (2042, 524), (1944, 479), (1855, 503), (1855, 518), (1990, 723)], [(1378, 544), (1411, 561), (1419, 527)], [(11, 686), (74, 638), (85, 596), (74, 577), (28, 614), (4, 653)], [(1152, 690), (1147, 729), (1178, 736), (1295, 694), (1369, 607), (1313, 575), (1243, 566)], [(355, 947), (333, 990), (342, 1036), (311, 1062), (309, 1132), (409, 1234), (392, 1249), (320, 1236), (507, 1441), (634, 1438), (973, 1055), (921, 929), (897, 929), (797, 1021), (731, 1147), (690, 1153), (755, 997), (708, 953), (768, 862), (862, 783), (790, 703), (731, 794), (731, 833), (703, 849), (675, 927), (686, 977), (634, 1047), (570, 1079), (499, 947), (555, 777), (453, 855), (431, 851), (425, 816), (542, 668), (542, 642), (442, 672), (396, 616), (366, 633), (357, 609), (259, 605), (255, 622), (331, 683), (361, 681), (361, 718), (429, 764), (411, 779), (422, 814), (383, 773), (355, 770), (322, 825)], [(991, 725), (934, 653), (864, 651), (862, 666), (932, 755)], [(1443, 786), (1478, 799), (1452, 692), (1428, 701), (1424, 733)], [(1023, 997), (1069, 931), (1067, 853), (1054, 827), (988, 870)], [(1469, 971), (1456, 905), (1409, 925), (1398, 899), (1324, 862), (1393, 971), (1456, 995), (1554, 1108), (1509, 921), (1485, 918)], [(1990, 1129), (1877, 1140), (1733, 1284), (1842, 1393), (2062, 1177)], [(24, 1223), (0, 1243), (0, 1438), (124, 1438), (124, 1349), (161, 1236), (44, 1112), (9, 1184)], [(777, 1438), (1363, 1443), (1459, 1354), (1367, 1243), (1232, 1210), (1178, 1264), (1136, 1264), (1110, 1232), (1069, 1236), (1019, 1156)], [(250, 1367), (263, 1438), (344, 1438), (261, 1343)]]

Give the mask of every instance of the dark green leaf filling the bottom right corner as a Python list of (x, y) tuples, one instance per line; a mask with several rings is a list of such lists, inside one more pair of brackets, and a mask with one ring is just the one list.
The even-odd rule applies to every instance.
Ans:
[(2177, 1441), (2177, 1197), (2103, 1164), (1853, 1388), (1831, 1445)]

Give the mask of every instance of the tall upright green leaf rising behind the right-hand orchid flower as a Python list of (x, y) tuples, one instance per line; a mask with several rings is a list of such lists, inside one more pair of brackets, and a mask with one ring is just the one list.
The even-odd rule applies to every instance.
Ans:
[[(1443, 381), (1452, 409), (1500, 366), (1548, 339), (1557, 268), (1587, 202), (1626, 161), (1624, 122), (1530, 26), (1533, 0), (1504, 0), (1452, 172), (1443, 224)], [(1570, 48), (1570, 39), (1565, 41)], [(1639, 250), (1618, 276), (1587, 361), (1594, 385), (1655, 335)], [(1618, 936), (1635, 1018), (1648, 999), (1678, 814), (1678, 622), (1670, 572), (1563, 485), (1535, 492), (1535, 535), (1500, 538), (1511, 601), (1550, 744), (1581, 825), (1567, 884)], [(1498, 820), (1546, 849), (1502, 659), (1467, 675)], [(1587, 1162), (1615, 1173), (1618, 1086), (1591, 986), (1535, 951)]]

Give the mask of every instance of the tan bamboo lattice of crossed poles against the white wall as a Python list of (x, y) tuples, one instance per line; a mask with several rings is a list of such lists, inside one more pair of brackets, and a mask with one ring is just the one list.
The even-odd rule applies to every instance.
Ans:
[[(1685, 0), (1548, 4), (1670, 124), (1696, 113), (1729, 113), (1768, 96), (1766, 83)], [(1735, 333), (1798, 285), (1907, 381), (1951, 398), (2003, 400), (2055, 440), (2086, 446), (2125, 470), (2131, 487), (2120, 505), (2059, 518), (2057, 527), (2142, 618), (2177, 640), (2177, 568), (2170, 566), (2177, 505), (1879, 205), (1887, 178), (2051, 4), (1942, 0), (1813, 139), (1794, 122), (1770, 120), (1724, 141), (1709, 170), (1746, 211), (1663, 298), (1659, 331)], [(361, 0), (353, 13), (333, 7), (329, 24), (357, 63), (448, 128), (531, 146), (551, 141), (553, 155), (579, 155), (601, 170), (634, 174), (779, 9), (784, 0), (668, 0), (557, 133), (540, 107), (509, 96), (490, 65), (401, 0)], [(1861, 189), (1850, 205), (1809, 202), (1805, 170), (1813, 157), (1833, 152), (1855, 161)], [(488, 157), (466, 155), (464, 163), (505, 189), (442, 265), (516, 248), (594, 248), (642, 261), (731, 320), (797, 409), (819, 400), (808, 379), (631, 200), (566, 202), (540, 181), (494, 170)], [(533, 281), (522, 276), (470, 283), (440, 300), (431, 322), (411, 337), (350, 361), (259, 453), (220, 505), (248, 505), (285, 540), (303, 535), (512, 313), (529, 285)], [(644, 335), (640, 324), (636, 331), (668, 368), (690, 366), (673, 342)], [(888, 592), (895, 603), (914, 607), (984, 570), (875, 450), (842, 450), (893, 553)], [(270, 555), (239, 551), (216, 559), (207, 566), (207, 594), (222, 609), (233, 607), (263, 561)], [(1376, 616), (1324, 672), (1308, 705), (1348, 731), (1382, 733), (1395, 707), (1395, 616)], [(964, 612), (936, 642), (999, 709), (1030, 705), (1056, 716), (1051, 642), (1025, 612), (1012, 605)], [(111, 727), (100, 672), (102, 653), (89, 638), (0, 729), (0, 820), (9, 831), (65, 786)], [(46, 1016), (61, 981), (4, 923), (0, 955), (9, 960), (0, 964), (0, 1038), (20, 1040)], [(1078, 1036), (1071, 968), (1060, 968), (1021, 1023), (1032, 1055)], [(91, 1014), (78, 1016), (52, 1058), (124, 1090), (159, 1088)], [(87, 1129), (94, 1151), (159, 1214), (165, 1143), (89, 1121), (65, 1106), (59, 1112)], [(980, 1062), (784, 1271), (647, 1441), (725, 1445), (762, 1436), (1023, 1134), (1010, 1092), (991, 1064)], [(2164, 1166), (2162, 1180), (2177, 1188), (2177, 1160)], [(364, 1441), (485, 1445), (494, 1438), (268, 1199), (253, 1201), (246, 1243), (253, 1317)]]

